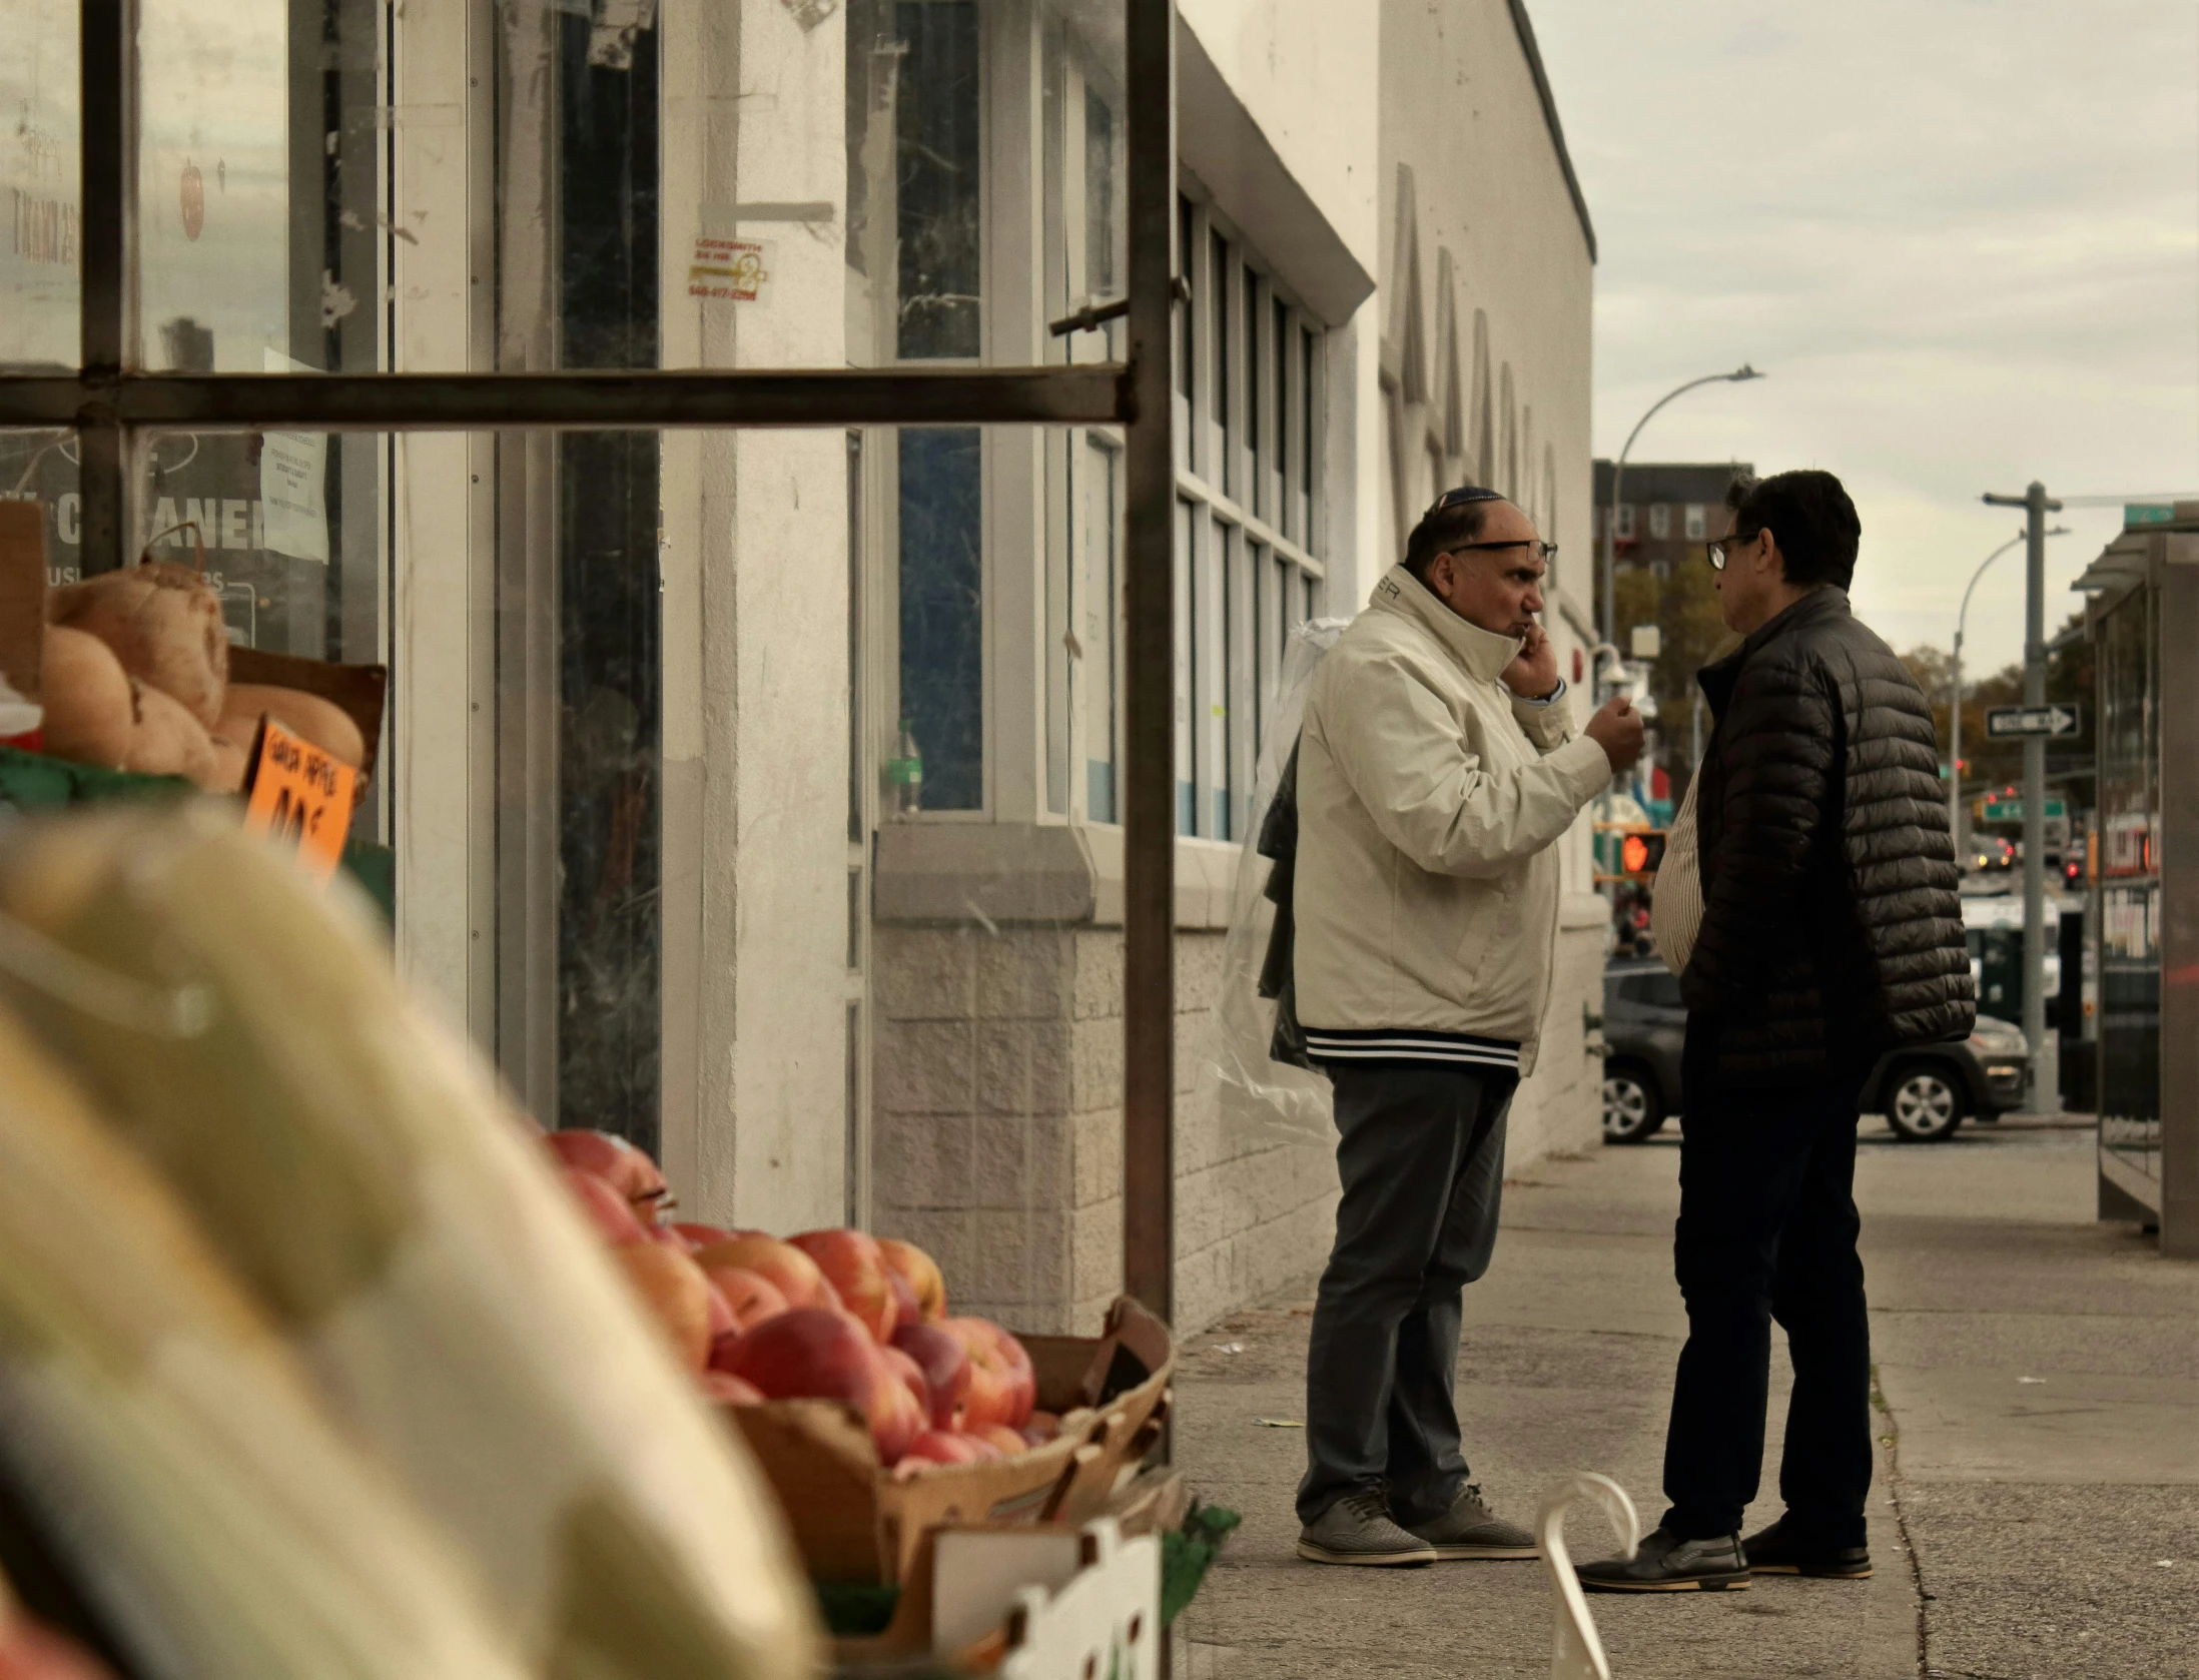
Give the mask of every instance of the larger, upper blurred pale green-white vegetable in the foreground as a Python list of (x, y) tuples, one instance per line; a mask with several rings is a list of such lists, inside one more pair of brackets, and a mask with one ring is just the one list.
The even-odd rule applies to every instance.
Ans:
[(0, 913), (101, 985), (198, 998), (205, 1027), (176, 1031), (81, 985), (0, 983), (477, 1566), (528, 1667), (811, 1669), (809, 1594), (748, 1456), (471, 1051), (405, 1007), (361, 906), (174, 811), (26, 833)]

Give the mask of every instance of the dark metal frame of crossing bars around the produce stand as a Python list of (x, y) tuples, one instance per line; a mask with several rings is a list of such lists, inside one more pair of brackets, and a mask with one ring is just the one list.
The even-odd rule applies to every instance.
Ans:
[[(473, 0), (484, 4), (486, 0)], [(130, 554), (145, 431), (666, 431), (1119, 424), (1124, 429), (1124, 1286), (1174, 1311), (1174, 0), (1124, 0), (1128, 361), (932, 372), (150, 374), (136, 319), (136, 0), (81, 0), (75, 374), (0, 376), (0, 427), (79, 435), (86, 572)]]

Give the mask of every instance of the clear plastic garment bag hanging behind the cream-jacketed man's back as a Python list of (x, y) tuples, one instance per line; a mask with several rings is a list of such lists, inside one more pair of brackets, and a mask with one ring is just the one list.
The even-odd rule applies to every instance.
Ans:
[(1297, 853), (1295, 772), (1306, 686), (1346, 622), (1308, 620), (1291, 631), (1284, 646), (1275, 710), (1253, 776), (1251, 822), (1238, 855), (1214, 1027), (1198, 1058), (1198, 1097), (1214, 1102), (1227, 1124), (1322, 1143), (1335, 1137), (1335, 1121), (1328, 1080), (1306, 1064), (1291, 1007), (1289, 897)]

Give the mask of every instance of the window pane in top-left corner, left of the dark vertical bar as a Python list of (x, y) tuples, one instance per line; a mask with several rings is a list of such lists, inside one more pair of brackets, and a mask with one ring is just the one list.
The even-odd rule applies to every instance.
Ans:
[[(77, 0), (9, 0), (0, 108), (13, 145), (0, 163), (9, 235), (0, 244), (0, 369), (77, 365)], [(18, 438), (9, 446), (18, 446)]]

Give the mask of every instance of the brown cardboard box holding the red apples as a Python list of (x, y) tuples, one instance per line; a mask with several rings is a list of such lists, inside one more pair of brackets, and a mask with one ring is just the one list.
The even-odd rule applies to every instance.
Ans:
[(1152, 1445), (1176, 1355), (1168, 1326), (1121, 1297), (1100, 1337), (1020, 1337), (1038, 1405), (1062, 1434), (987, 1465), (895, 1475), (838, 1401), (730, 1407), (818, 1581), (899, 1585), (946, 1524), (1075, 1522), (1106, 1502)]

